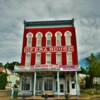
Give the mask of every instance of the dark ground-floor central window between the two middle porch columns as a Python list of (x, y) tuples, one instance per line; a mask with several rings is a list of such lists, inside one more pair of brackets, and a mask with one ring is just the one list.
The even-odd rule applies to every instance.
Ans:
[(53, 90), (53, 79), (46, 78), (44, 80), (44, 90), (52, 91)]

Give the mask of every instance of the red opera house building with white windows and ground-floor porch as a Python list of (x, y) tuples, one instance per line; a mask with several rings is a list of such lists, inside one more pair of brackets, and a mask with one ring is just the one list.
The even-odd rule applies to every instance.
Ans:
[[(78, 57), (74, 20), (24, 22), (20, 91), (77, 95)], [(20, 93), (19, 93), (20, 94)]]

